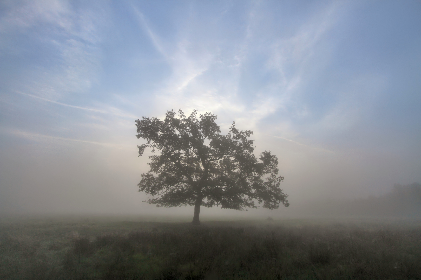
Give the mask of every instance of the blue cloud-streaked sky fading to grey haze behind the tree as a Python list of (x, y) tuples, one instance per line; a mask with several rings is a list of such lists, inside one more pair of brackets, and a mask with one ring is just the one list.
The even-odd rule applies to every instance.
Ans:
[[(0, 1), (0, 212), (193, 215), (136, 192), (134, 120), (210, 111), (291, 206), (421, 182), (420, 1)], [(295, 208), (294, 208), (295, 207)]]

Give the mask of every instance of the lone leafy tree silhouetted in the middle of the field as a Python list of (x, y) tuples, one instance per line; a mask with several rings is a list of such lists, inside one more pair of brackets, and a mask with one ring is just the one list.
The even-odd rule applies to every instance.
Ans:
[[(158, 207), (195, 206), (193, 224), (200, 224), (200, 206), (242, 210), (263, 207), (288, 207), (287, 195), (280, 189), (283, 176), (278, 175), (278, 158), (269, 151), (259, 160), (253, 154), (253, 131), (238, 130), (235, 122), (227, 135), (221, 135), (216, 115), (205, 113), (197, 119), (197, 110), (179, 118), (171, 110), (165, 120), (136, 120), (137, 138), (147, 140), (138, 146), (139, 157), (147, 147), (160, 151), (151, 155), (151, 167), (142, 174), (139, 191), (150, 194), (147, 201)], [(264, 176), (267, 175), (266, 178)]]

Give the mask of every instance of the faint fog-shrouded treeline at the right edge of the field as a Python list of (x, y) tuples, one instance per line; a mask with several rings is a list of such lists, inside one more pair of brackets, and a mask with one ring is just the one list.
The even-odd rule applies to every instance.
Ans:
[(421, 217), (421, 185), (395, 184), (392, 191), (382, 196), (317, 201), (306, 204), (301, 210), (313, 215)]

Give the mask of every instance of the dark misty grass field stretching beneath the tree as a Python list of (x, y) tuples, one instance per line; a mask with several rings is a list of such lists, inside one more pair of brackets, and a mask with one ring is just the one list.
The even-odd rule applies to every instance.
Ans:
[(0, 222), (0, 279), (421, 279), (414, 221)]

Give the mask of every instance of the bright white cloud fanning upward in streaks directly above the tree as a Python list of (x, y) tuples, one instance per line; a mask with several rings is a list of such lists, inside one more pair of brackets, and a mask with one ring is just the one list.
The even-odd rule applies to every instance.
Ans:
[[(194, 32), (199, 26), (192, 24), (198, 21), (197, 18), (184, 21), (188, 26), (178, 26), (175, 42), (166, 44), (165, 40), (158, 39), (157, 31), (148, 26), (144, 15), (136, 10), (142, 28), (172, 69), (171, 75), (162, 82), (163, 86), (155, 91), (158, 104), (185, 110), (211, 110), (222, 113), (222, 117), (235, 115), (236, 120), (247, 120), (251, 128), (278, 110), (292, 113), (294, 117), (306, 115), (308, 108), (296, 101), (296, 95), (302, 90), (301, 81), (306, 79), (304, 70), (314, 54), (314, 46), (336, 21), (336, 10), (337, 5), (329, 5), (303, 23), (292, 36), (265, 38), (262, 42), (261, 19), (265, 11), (255, 3), (249, 7), (242, 39), (225, 38), (230, 49), (224, 53), (218, 43), (208, 42), (206, 38), (203, 42), (207, 45), (203, 47), (200, 35), (197, 37)], [(206, 26), (201, 27), (206, 32)], [(259, 65), (265, 67), (260, 71), (277, 75), (278, 79), (260, 86), (256, 92), (239, 92), (240, 85), (247, 79), (243, 72), (250, 67), (256, 52), (270, 54), (266, 56), (266, 64)]]

